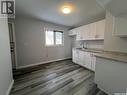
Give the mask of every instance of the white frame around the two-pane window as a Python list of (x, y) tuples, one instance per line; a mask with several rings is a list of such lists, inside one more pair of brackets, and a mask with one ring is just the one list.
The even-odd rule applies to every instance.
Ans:
[[(48, 31), (48, 30), (50, 30), (50, 29), (46, 29), (44, 32), (45, 32), (45, 46), (46, 47), (56, 47), (56, 46), (64, 46), (64, 32), (62, 31), (62, 30), (50, 30), (50, 31), (52, 31), (53, 32), (53, 34), (54, 34), (54, 45), (47, 45), (46, 44), (46, 31)], [(56, 32), (61, 32), (62, 33), (62, 44), (56, 44)]]

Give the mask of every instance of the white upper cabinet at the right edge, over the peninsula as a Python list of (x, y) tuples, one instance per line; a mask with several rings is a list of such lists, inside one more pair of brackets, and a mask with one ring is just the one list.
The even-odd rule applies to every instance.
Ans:
[(127, 16), (114, 17), (113, 35), (127, 37)]

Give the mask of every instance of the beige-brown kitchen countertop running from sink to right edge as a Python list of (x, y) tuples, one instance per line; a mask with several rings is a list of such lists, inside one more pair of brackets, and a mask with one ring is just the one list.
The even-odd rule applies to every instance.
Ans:
[(85, 52), (91, 52), (96, 57), (127, 63), (127, 53), (112, 52), (112, 51), (105, 51), (102, 49), (91, 49), (91, 48), (88, 49), (77, 48), (77, 49)]

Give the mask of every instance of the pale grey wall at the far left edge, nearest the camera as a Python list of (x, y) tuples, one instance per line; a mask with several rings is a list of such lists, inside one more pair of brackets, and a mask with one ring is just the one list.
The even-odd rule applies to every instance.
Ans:
[(0, 18), (0, 95), (7, 95), (12, 81), (8, 21)]

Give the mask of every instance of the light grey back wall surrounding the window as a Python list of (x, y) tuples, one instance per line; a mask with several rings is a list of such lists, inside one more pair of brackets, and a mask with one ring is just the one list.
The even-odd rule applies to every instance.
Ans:
[[(44, 27), (64, 31), (64, 46), (45, 47)], [(18, 67), (71, 57), (71, 41), (65, 27), (32, 18), (15, 20)]]

